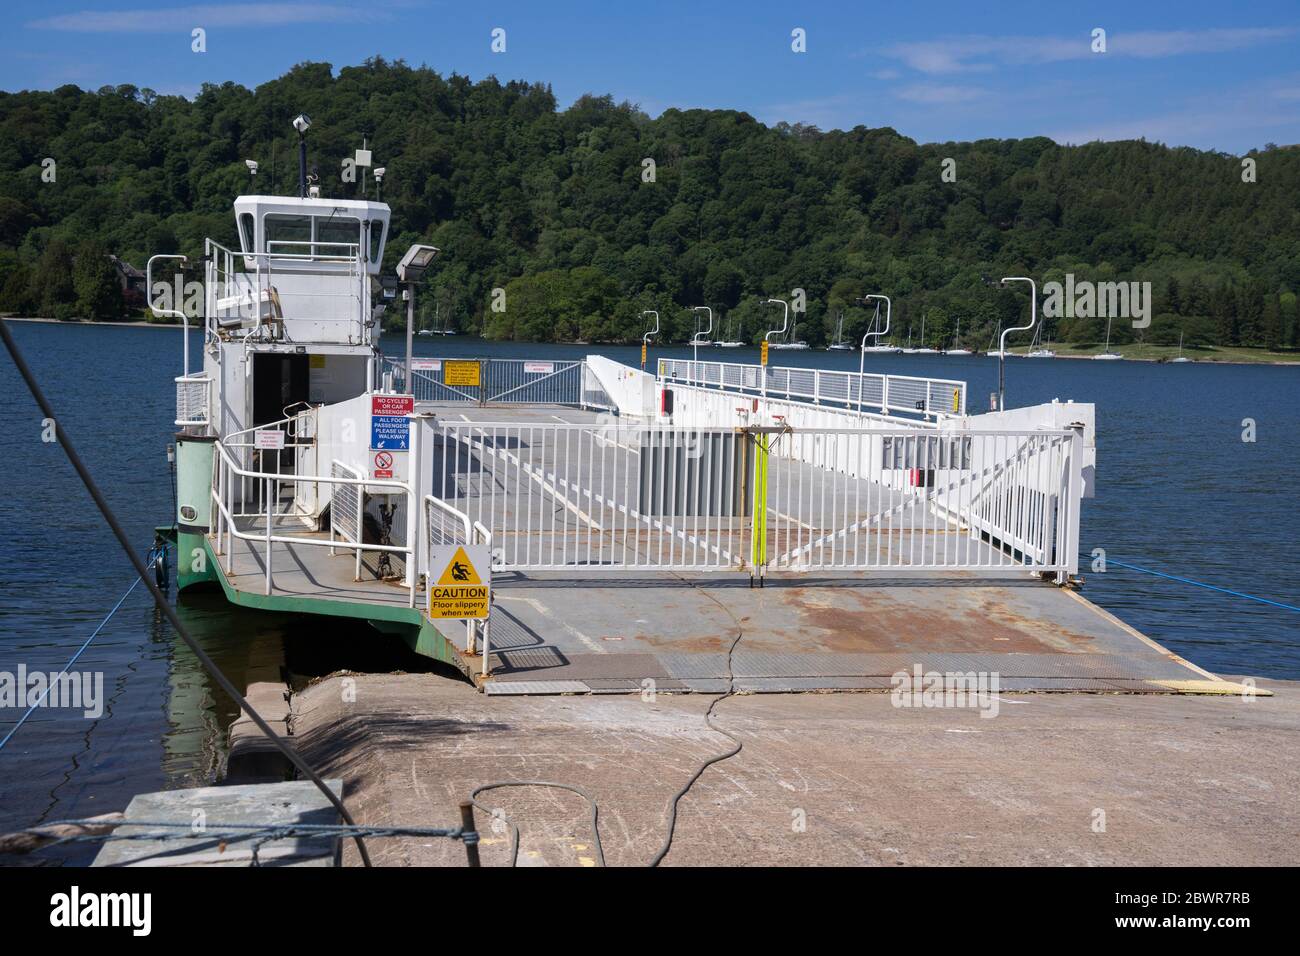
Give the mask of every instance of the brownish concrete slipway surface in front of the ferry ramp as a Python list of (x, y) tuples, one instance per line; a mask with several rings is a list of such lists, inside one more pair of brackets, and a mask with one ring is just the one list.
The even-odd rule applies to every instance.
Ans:
[[(344, 683), (354, 682), (354, 683)], [(1271, 697), (1001, 693), (979, 709), (889, 693), (741, 695), (714, 723), (744, 749), (681, 800), (666, 865), (1291, 865), (1300, 845), (1300, 683)], [(299, 748), (359, 823), (454, 826), (476, 787), (577, 784), (608, 865), (646, 864), (667, 805), (732, 745), (705, 693), (485, 696), (438, 675), (329, 678), (291, 701)], [(987, 710), (985, 710), (987, 713)], [(581, 797), (481, 801), (520, 865), (594, 865)], [(508, 862), (484, 813), (484, 865)], [(463, 866), (459, 843), (372, 840), (381, 865)], [(343, 848), (344, 865), (358, 862)]]

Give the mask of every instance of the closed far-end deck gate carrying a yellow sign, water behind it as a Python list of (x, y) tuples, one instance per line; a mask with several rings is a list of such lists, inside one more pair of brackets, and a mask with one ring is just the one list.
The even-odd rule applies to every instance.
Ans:
[[(428, 362), (428, 360), (426, 360)], [(411, 369), (406, 386), (406, 363), (385, 358), (384, 369), (393, 388), (410, 392), (417, 402), (477, 405), (564, 405), (578, 408), (610, 408), (612, 402), (599, 380), (580, 359), (450, 359), (478, 364), (478, 385), (446, 381), (448, 359), (433, 359), (433, 368)]]

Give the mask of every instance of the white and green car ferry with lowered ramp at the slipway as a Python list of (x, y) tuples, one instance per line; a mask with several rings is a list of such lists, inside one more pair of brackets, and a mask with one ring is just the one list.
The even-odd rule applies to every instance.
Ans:
[[(979, 633), (1030, 601), (1044, 632), (1069, 620), (1083, 635), (1087, 653), (1069, 661), (1030, 632), (1015, 632), (1015, 653), (989, 644), (989, 666), (1011, 684), (1110, 691), (1192, 672), (1062, 593), (1079, 584), (1080, 509), (1093, 496), (1091, 403), (1006, 407), (1004, 394), (972, 414), (966, 382), (862, 369), (415, 356), (413, 291), (439, 255), (419, 242), (396, 265), (407, 337), (390, 356), (386, 204), (303, 185), (298, 196), (240, 195), (233, 212), (237, 247), (204, 245), (203, 342), (198, 355), (182, 346), (174, 382), (182, 592), (355, 619), (484, 695), (638, 692), (647, 679), (679, 692), (876, 685), (893, 658), (870, 615), (840, 644), (755, 658), (742, 680), (727, 656), (692, 643), (693, 622), (716, 615), (699, 583), (788, 576), (768, 592), (772, 627), (786, 628), (840, 594), (807, 593), (826, 576), (875, 572), (904, 614), (931, 593), (898, 584), (906, 572), (970, 589)], [(151, 290), (176, 259), (150, 260)], [(871, 298), (885, 302), (875, 334), (888, 334), (889, 299)], [(788, 303), (770, 302), (788, 317)], [(1032, 326), (1031, 315), (1022, 328)], [(637, 588), (619, 587), (619, 572)], [(625, 639), (629, 615), (653, 644), (593, 650), (590, 635)], [(963, 645), (922, 631), (909, 659), (958, 670)]]

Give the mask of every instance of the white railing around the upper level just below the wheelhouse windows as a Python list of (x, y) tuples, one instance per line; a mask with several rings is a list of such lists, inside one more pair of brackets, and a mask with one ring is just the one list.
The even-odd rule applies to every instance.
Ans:
[[(308, 245), (313, 250), (316, 246), (337, 246), (342, 252), (237, 252), (212, 239), (204, 241), (205, 341), (224, 332), (230, 334), (235, 328), (246, 336), (276, 334), (274, 330), (286, 320), (311, 320), (342, 325), (343, 337), (351, 345), (369, 342), (369, 273), (360, 247), (354, 243), (289, 245)], [(247, 268), (250, 263), (251, 269)], [(312, 280), (308, 291), (277, 286), (277, 276), (287, 277), (295, 273), (295, 268), (321, 263), (343, 268), (308, 273)], [(306, 299), (307, 303), (295, 306), (295, 299)], [(325, 310), (317, 302), (330, 299), (342, 299), (342, 306)]]

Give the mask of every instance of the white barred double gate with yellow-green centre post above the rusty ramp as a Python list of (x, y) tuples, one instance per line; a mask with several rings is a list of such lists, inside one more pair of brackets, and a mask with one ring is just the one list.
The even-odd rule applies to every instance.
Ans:
[(1078, 570), (1062, 431), (430, 424), (500, 570)]

